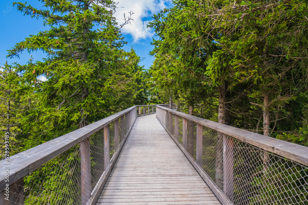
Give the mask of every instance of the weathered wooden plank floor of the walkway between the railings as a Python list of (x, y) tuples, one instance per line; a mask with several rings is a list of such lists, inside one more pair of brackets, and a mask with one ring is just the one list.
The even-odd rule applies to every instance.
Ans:
[(99, 204), (221, 203), (154, 114), (137, 117)]

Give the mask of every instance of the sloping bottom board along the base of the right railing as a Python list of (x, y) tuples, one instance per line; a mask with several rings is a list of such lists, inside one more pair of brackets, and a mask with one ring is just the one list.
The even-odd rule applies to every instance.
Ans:
[[(233, 204), (224, 193), (218, 189), (216, 184), (213, 182), (213, 180), (203, 171), (203, 169), (199, 166), (199, 164), (195, 161), (195, 159), (187, 152), (187, 150), (177, 141), (174, 136), (169, 132), (169, 130), (166, 128), (166, 126), (161, 122), (161, 120), (157, 117), (158, 121), (161, 123), (161, 125), (165, 128), (165, 130), (168, 132), (169, 136), (174, 140), (174, 142), (177, 144), (177, 146), (182, 150), (182, 152), (185, 154), (185, 156), (188, 158), (188, 160), (193, 164), (193, 166), (196, 168), (198, 173), (201, 175), (201, 177), (205, 180), (205, 182), (209, 185), (213, 193), (217, 196), (217, 198), (220, 200), (220, 202), (224, 205), (230, 205)], [(184, 120), (184, 118), (183, 118)]]

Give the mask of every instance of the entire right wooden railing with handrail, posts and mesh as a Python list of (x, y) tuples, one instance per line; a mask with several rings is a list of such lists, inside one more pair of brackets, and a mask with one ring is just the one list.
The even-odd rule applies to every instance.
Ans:
[(156, 117), (223, 204), (307, 204), (307, 147), (161, 106)]

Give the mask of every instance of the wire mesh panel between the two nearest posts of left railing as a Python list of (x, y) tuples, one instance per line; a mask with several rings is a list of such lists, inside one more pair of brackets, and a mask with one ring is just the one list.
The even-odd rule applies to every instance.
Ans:
[(81, 204), (79, 147), (75, 145), (24, 177), (25, 204)]

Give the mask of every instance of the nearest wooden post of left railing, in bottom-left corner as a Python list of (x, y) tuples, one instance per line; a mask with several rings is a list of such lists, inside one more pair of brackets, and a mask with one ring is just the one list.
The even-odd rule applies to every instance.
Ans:
[(1, 205), (24, 204), (25, 202), (24, 202), (23, 186), (24, 186), (24, 179), (21, 178), (13, 185), (11, 185), (8, 190), (4, 189), (0, 193), (0, 204)]

